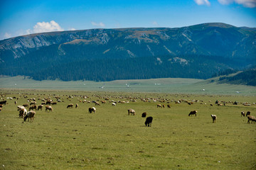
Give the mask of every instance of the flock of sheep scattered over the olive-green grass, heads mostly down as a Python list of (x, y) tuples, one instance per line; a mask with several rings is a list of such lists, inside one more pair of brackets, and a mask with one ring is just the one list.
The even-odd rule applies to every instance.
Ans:
[[(24, 98), (27, 98), (26, 96), (24, 96)], [(55, 98), (56, 98), (56, 100), (57, 100), (57, 102), (62, 102), (61, 100), (60, 100), (60, 97), (58, 97), (58, 96), (55, 96)], [(71, 98), (70, 96), (69, 96), (69, 98)], [(72, 98), (73, 98), (73, 96), (72, 96)], [(87, 96), (82, 96), (82, 98), (87, 98)], [(100, 97), (100, 98), (102, 98), (102, 97)], [(3, 108), (3, 105), (6, 105), (6, 103), (7, 103), (7, 101), (5, 101), (4, 100), (4, 98), (1, 98), (2, 99), (2, 101), (0, 101), (0, 111), (2, 110), (2, 108)], [(9, 98), (9, 99), (12, 99), (12, 98)], [(18, 98), (17, 98), (18, 99)], [(28, 119), (28, 121), (29, 120), (31, 120), (31, 121), (33, 121), (33, 118), (35, 117), (35, 115), (36, 115), (36, 111), (39, 111), (39, 110), (41, 110), (42, 111), (42, 109), (43, 109), (43, 106), (45, 105), (45, 108), (46, 108), (46, 111), (53, 111), (53, 107), (52, 106), (49, 106), (49, 105), (56, 105), (57, 104), (57, 102), (54, 102), (52, 99), (50, 99), (50, 98), (43, 98), (43, 99), (41, 99), (41, 98), (38, 98), (38, 100), (41, 100), (42, 101), (42, 103), (40, 104), (40, 105), (36, 105), (36, 99), (35, 98), (30, 98), (30, 99), (28, 99), (28, 102), (30, 102), (30, 104), (28, 104), (28, 103), (25, 103), (25, 104), (23, 104), (23, 106), (17, 106), (17, 108), (18, 108), (18, 116), (19, 116), (19, 118), (23, 118), (23, 121), (25, 122), (27, 119)], [(68, 98), (67, 98), (68, 99)], [(138, 99), (138, 98), (130, 98), (130, 101), (132, 101), (132, 102), (136, 102), (136, 99)], [(150, 100), (150, 98), (140, 98), (142, 101), (144, 101), (144, 102), (146, 102), (146, 101), (149, 101)], [(154, 101), (154, 102), (156, 102), (156, 101), (160, 101), (160, 102), (165, 102), (165, 100), (158, 100), (158, 99), (154, 99), (154, 98), (151, 98), (152, 99), (152, 101)], [(101, 103), (106, 103), (106, 101), (109, 101), (110, 100), (110, 98), (105, 98), (105, 100), (104, 101), (101, 101)], [(98, 100), (99, 101), (99, 100)], [(100, 103), (98, 102), (98, 101), (86, 101), (86, 100), (83, 100), (83, 101), (80, 101), (80, 102), (82, 102), (82, 103), (85, 103), (85, 102), (87, 102), (87, 103), (95, 103), (95, 106), (100, 106)], [(181, 102), (186, 102), (186, 103), (188, 103), (189, 105), (191, 105), (191, 104), (193, 104), (193, 102), (198, 102), (198, 101), (190, 101), (190, 102), (188, 102), (188, 101), (186, 101), (186, 100), (178, 100), (178, 101), (174, 101), (175, 103), (181, 103)], [(16, 101), (14, 102), (15, 104), (17, 103)], [(112, 103), (112, 106), (116, 106), (116, 104), (117, 104), (117, 102), (115, 102), (115, 101), (113, 101), (113, 100), (111, 100), (110, 101), (110, 103)], [(118, 101), (118, 103), (129, 103), (129, 101), (127, 101), (127, 102), (125, 102), (125, 101)], [(169, 100), (167, 99), (167, 103), (169, 103)], [(225, 106), (225, 103), (226, 102), (223, 102), (223, 103), (220, 103), (219, 101), (216, 101), (215, 102), (215, 104), (217, 104), (218, 106)], [(233, 103), (234, 105), (238, 105), (238, 102), (234, 102)], [(245, 106), (250, 106), (250, 103), (243, 103), (243, 105), (245, 105)], [(73, 108), (73, 106), (74, 106), (74, 104), (73, 103), (70, 103), (70, 104), (68, 104), (68, 106), (67, 106), (67, 108)], [(212, 104), (210, 104), (210, 106), (213, 106)], [(161, 105), (161, 104), (157, 104), (156, 105), (156, 107), (157, 108), (164, 108), (165, 107), (165, 105)], [(169, 105), (169, 104), (167, 104), (167, 107), (168, 108), (171, 108), (171, 106)], [(78, 103), (76, 103), (75, 104), (75, 108), (78, 108)], [(27, 111), (27, 109), (28, 109), (28, 111)], [(35, 111), (34, 111), (35, 110)], [(134, 109), (132, 109), (132, 108), (129, 108), (128, 110), (128, 115), (135, 115), (136, 113), (135, 113), (135, 111), (134, 111)], [(92, 108), (88, 108), (88, 113), (95, 113), (96, 112), (96, 108), (95, 107), (92, 107)], [(188, 116), (193, 116), (193, 115), (195, 115), (196, 116), (196, 113), (197, 113), (197, 111), (191, 111), (189, 114), (188, 114)], [(217, 120), (217, 115), (210, 115), (211, 116), (211, 118), (212, 118), (212, 120), (213, 120), (213, 123), (216, 123), (216, 120)], [(248, 121), (247, 121), (247, 123), (250, 123), (250, 121), (251, 121), (251, 123), (256, 123), (256, 118), (255, 118), (255, 116), (253, 116), (253, 115), (250, 115), (250, 111), (247, 111), (247, 113), (245, 114), (245, 112), (244, 111), (242, 111), (241, 112), (241, 116), (246, 116), (247, 118), (248, 118)], [(142, 113), (142, 118), (145, 118), (146, 117), (146, 113), (144, 112), (144, 113)], [(147, 117), (146, 118), (146, 121), (145, 121), (145, 125), (146, 126), (148, 126), (148, 127), (151, 127), (151, 123), (152, 123), (152, 120), (153, 120), (153, 118), (151, 117), (151, 116), (149, 116), (149, 117)]]

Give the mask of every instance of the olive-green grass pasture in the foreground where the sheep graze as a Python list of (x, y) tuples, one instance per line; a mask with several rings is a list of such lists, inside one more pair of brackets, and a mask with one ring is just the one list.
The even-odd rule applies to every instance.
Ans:
[[(0, 94), (4, 99), (18, 97), (7, 99), (0, 113), (0, 169), (256, 169), (256, 124), (240, 115), (256, 115), (254, 96), (3, 89)], [(36, 111), (33, 122), (18, 118), (14, 101), (56, 101), (53, 94), (63, 101), (53, 106), (53, 112)], [(81, 96), (88, 96), (87, 101), (107, 97), (129, 103), (95, 106), (80, 102)], [(166, 98), (171, 108), (156, 107), (167, 101), (140, 98)], [(176, 104), (178, 99), (198, 102)], [(216, 100), (240, 103), (216, 106)], [(67, 108), (69, 103), (79, 106)], [(96, 113), (88, 113), (92, 106)], [(129, 108), (137, 115), (127, 115)], [(198, 115), (188, 117), (193, 110)], [(143, 112), (154, 118), (151, 127), (144, 125)], [(216, 123), (210, 114), (218, 116)]]

